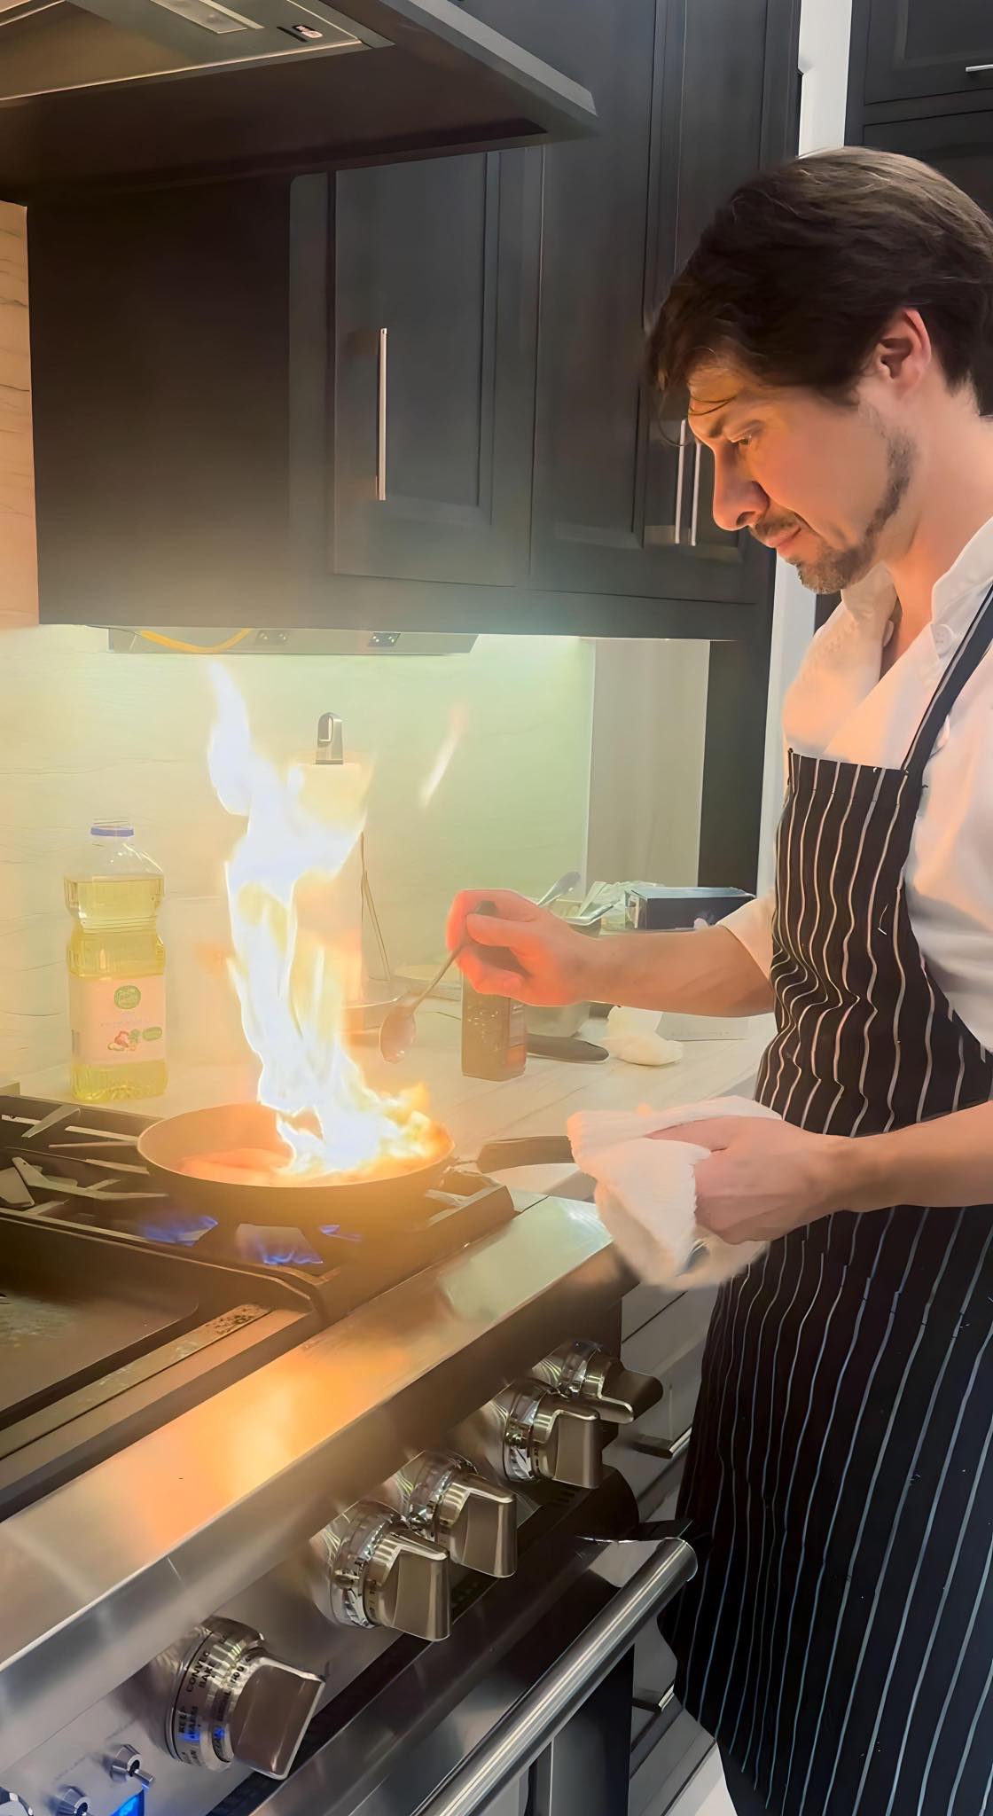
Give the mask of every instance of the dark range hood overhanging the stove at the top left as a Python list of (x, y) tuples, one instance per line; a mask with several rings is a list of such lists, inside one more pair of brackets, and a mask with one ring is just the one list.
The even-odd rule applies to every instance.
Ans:
[(592, 129), (585, 87), (454, 0), (0, 0), (9, 202)]

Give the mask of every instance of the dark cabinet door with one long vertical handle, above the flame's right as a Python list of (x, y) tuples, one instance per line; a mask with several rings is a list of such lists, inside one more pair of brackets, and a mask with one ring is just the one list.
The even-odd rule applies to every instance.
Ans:
[(343, 171), (334, 189), (330, 568), (521, 581), (537, 303), (534, 156)]

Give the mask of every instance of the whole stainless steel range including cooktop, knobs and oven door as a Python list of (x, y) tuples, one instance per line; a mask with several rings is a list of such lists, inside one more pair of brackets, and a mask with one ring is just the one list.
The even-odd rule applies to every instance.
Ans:
[(221, 1239), (140, 1128), (0, 1102), (0, 1816), (621, 1816), (693, 1554), (605, 1469), (661, 1387), (592, 1208)]

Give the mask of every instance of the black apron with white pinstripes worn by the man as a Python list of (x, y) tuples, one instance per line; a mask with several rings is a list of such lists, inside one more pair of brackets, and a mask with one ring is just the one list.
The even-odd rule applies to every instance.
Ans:
[[(904, 888), (924, 770), (790, 754), (761, 1102), (870, 1135), (993, 1095)], [(989, 952), (988, 964), (993, 964)], [(777, 1816), (993, 1811), (993, 1208), (842, 1211), (717, 1300), (683, 1487), (703, 1567), (677, 1691)]]

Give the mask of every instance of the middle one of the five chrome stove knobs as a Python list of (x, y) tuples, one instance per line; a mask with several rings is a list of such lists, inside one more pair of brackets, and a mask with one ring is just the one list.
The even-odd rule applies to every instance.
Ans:
[(405, 1524), (483, 1576), (517, 1569), (517, 1500), (459, 1456), (418, 1456), (399, 1478)]

